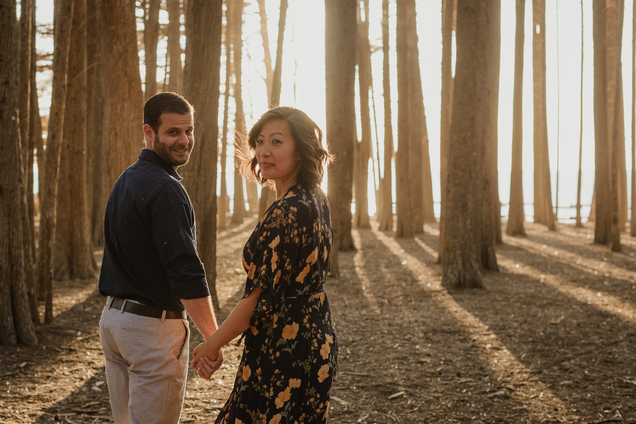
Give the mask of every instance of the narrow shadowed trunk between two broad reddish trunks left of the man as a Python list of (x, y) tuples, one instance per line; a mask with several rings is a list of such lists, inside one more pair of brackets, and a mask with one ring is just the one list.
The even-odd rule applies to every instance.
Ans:
[(104, 244), (104, 2), (86, 1), (86, 202), (93, 246)]

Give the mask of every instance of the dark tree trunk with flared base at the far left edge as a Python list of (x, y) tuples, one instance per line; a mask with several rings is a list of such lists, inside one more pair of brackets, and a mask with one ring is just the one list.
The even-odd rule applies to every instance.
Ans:
[(15, 1), (0, 0), (0, 343), (15, 345), (19, 341), (32, 346), (38, 338), (29, 314), (24, 279), (15, 16)]

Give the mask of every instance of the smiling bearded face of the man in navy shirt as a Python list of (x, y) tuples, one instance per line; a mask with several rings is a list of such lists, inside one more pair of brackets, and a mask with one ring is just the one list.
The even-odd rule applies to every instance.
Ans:
[(194, 118), (192, 114), (161, 115), (161, 125), (157, 132), (144, 125), (146, 149), (153, 150), (163, 161), (177, 168), (188, 163), (195, 144)]

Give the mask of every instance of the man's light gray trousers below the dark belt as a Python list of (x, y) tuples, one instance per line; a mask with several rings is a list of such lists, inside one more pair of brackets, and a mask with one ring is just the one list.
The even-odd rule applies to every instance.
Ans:
[(99, 334), (115, 424), (177, 424), (188, 376), (190, 329), (104, 308)]

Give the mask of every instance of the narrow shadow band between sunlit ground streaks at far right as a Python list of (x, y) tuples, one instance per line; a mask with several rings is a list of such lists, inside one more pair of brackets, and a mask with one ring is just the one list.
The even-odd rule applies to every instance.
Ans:
[[(593, 289), (605, 295), (618, 296), (630, 301), (636, 307), (636, 290), (633, 282), (618, 277), (594, 275), (591, 272), (581, 270), (569, 263), (551, 256), (539, 255), (520, 246), (506, 244), (499, 248), (498, 253), (516, 262), (526, 263), (543, 274), (562, 275), (583, 288)], [(514, 274), (519, 275), (519, 274)]]

